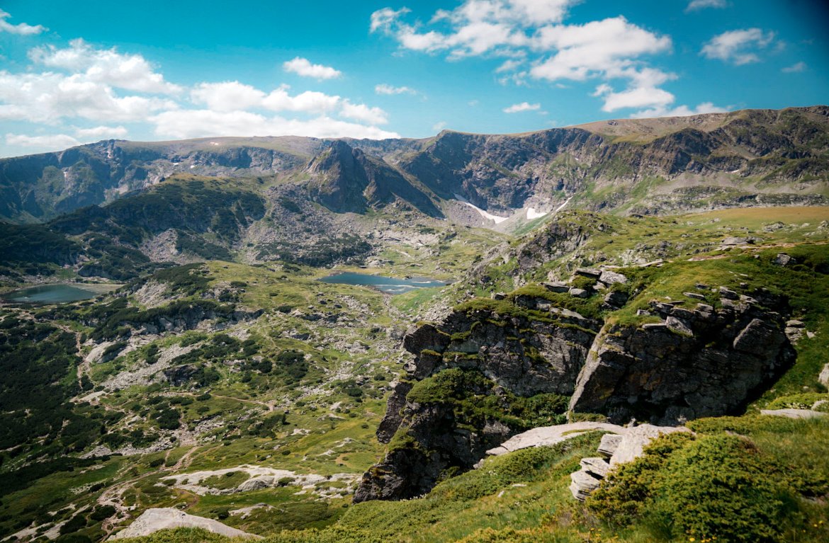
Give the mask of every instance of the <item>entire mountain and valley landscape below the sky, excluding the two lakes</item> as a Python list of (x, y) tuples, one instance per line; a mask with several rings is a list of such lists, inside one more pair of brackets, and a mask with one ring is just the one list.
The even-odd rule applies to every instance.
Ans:
[(827, 541), (827, 115), (0, 161), (0, 539)]

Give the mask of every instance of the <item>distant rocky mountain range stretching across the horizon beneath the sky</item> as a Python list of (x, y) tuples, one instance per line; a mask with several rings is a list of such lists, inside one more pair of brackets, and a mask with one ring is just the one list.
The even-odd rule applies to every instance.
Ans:
[[(403, 201), (463, 223), (461, 198), (494, 214), (571, 207), (653, 214), (825, 204), (829, 108), (625, 119), (514, 135), (424, 140), (203, 138), (108, 141), (0, 161), (0, 217), (41, 222), (176, 172), (273, 176), (335, 212)], [(336, 171), (335, 171), (336, 170)], [(468, 211), (468, 209), (467, 209)]]

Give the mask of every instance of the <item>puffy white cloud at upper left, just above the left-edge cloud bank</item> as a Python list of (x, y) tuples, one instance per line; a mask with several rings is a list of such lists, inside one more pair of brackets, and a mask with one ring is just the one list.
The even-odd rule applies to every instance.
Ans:
[(122, 55), (115, 48), (94, 49), (81, 39), (69, 42), (69, 47), (37, 47), (29, 51), (29, 58), (49, 68), (84, 71), (85, 79), (119, 89), (143, 93), (177, 94), (182, 88), (164, 80), (162, 74), (141, 55)]

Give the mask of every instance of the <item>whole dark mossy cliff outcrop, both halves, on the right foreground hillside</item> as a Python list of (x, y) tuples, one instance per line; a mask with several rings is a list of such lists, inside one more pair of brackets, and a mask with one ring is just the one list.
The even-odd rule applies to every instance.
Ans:
[[(627, 281), (613, 271), (583, 272), (608, 285)], [(581, 291), (560, 283), (548, 290)], [(747, 296), (720, 287), (717, 308), (653, 301), (641, 318), (659, 322), (604, 326), (556, 306), (555, 294), (530, 292), (472, 300), (406, 335), (405, 348), (417, 355), (410, 381), (395, 385), (377, 434), (389, 450), (363, 476), (356, 502), (419, 496), (448, 473), (471, 469), (487, 449), (549, 425), (526, 411), (544, 412), (553, 395), (572, 395), (570, 411), (618, 424), (678, 425), (738, 412), (795, 356), (784, 333), (785, 300), (768, 291)]]

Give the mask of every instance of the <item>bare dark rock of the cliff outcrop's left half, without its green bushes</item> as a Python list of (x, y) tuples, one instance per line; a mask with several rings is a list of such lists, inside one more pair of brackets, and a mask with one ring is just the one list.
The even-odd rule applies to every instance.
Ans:
[[(424, 379), (449, 368), (477, 369), (492, 387), (470, 394), (516, 396), (541, 393), (570, 395), (584, 365), (600, 323), (570, 310), (550, 307), (543, 298), (521, 296), (515, 304), (544, 311), (545, 320), (498, 315), (492, 310), (454, 312), (441, 324), (424, 324), (410, 330), (405, 348), (417, 355), (410, 378)], [(549, 322), (549, 320), (553, 320)], [(405, 432), (404, 444), (386, 454), (363, 476), (354, 501), (401, 499), (428, 492), (445, 469), (472, 469), (487, 449), (502, 444), (516, 428), (484, 420), (470, 428), (459, 420), (453, 406), (410, 401), (410, 382), (395, 386), (388, 410), (378, 429), (387, 443)], [(392, 443), (394, 445), (394, 442)]]

